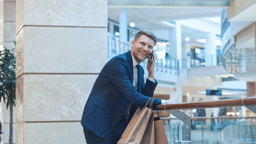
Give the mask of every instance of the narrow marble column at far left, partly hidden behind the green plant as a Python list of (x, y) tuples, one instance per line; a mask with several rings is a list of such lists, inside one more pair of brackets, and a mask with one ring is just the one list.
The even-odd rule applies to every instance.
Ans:
[[(8, 49), (15, 48), (15, 0), (4, 0), (4, 47)], [(3, 143), (9, 143), (10, 136), (10, 109), (6, 109), (6, 104), (3, 104)], [(12, 130), (12, 142), (15, 141), (15, 107), (13, 107), (13, 130)]]

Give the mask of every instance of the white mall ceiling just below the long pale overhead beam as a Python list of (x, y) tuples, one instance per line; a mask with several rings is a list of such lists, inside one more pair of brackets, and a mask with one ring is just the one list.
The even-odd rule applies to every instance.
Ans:
[[(120, 10), (121, 8), (108, 7), (108, 19), (119, 22)], [(168, 36), (168, 30), (171, 27), (161, 21), (172, 23), (176, 20), (200, 19), (220, 27), (222, 10), (222, 8), (127, 8), (127, 25), (134, 22), (134, 28), (153, 32), (162, 31), (162, 34)], [(190, 40), (205, 38), (209, 34), (209, 32), (188, 26), (182, 26), (181, 30), (182, 40), (186, 37), (189, 37)], [(164, 36), (165, 40), (168, 40), (167, 36)]]

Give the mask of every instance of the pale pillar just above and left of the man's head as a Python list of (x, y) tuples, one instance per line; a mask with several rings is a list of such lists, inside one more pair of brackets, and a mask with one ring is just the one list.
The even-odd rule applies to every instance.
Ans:
[(127, 9), (122, 8), (119, 18), (119, 37), (120, 42), (127, 42)]

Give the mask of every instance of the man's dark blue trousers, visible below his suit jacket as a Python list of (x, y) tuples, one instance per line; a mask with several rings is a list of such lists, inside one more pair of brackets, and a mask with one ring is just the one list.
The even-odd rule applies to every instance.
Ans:
[(124, 117), (116, 124), (106, 138), (100, 138), (94, 132), (83, 126), (87, 144), (116, 144), (120, 140), (127, 124)]

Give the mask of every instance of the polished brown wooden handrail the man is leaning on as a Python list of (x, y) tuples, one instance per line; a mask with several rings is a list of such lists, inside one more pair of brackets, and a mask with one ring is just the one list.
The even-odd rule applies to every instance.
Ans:
[[(196, 108), (222, 108), (222, 107), (233, 107), (243, 106), (243, 98), (232, 98), (225, 100), (212, 100), (203, 102), (186, 102), (180, 104), (166, 104), (166, 110), (185, 110), (185, 109), (196, 109)], [(256, 105), (256, 97), (244, 98), (244, 105)], [(157, 110), (164, 110), (164, 105), (158, 105)]]

